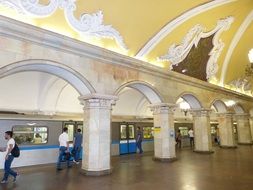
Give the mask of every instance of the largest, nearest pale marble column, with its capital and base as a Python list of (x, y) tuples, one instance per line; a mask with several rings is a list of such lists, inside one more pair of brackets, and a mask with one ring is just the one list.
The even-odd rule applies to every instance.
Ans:
[(79, 97), (84, 106), (82, 172), (100, 176), (111, 173), (111, 107), (117, 97), (90, 94)]

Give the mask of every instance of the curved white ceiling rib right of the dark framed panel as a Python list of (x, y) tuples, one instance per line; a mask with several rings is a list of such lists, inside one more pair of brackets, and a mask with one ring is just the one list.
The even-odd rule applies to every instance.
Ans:
[(248, 16), (244, 19), (243, 23), (240, 25), (239, 29), (237, 30), (236, 34), (234, 35), (233, 40), (231, 41), (231, 44), (228, 48), (224, 63), (222, 65), (222, 71), (221, 71), (221, 79), (220, 83), (224, 85), (224, 80), (226, 78), (227, 74), (227, 68), (228, 64), (231, 60), (232, 54), (235, 50), (235, 47), (239, 43), (241, 37), (243, 36), (244, 32), (247, 30), (251, 22), (253, 21), (253, 10), (248, 14)]

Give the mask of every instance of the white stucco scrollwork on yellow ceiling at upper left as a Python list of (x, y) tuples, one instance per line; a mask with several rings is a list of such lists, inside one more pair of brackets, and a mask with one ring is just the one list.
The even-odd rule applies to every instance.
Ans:
[(35, 18), (44, 18), (51, 16), (60, 8), (64, 10), (65, 19), (76, 32), (97, 38), (114, 39), (117, 44), (127, 49), (120, 33), (111, 25), (103, 24), (103, 13), (98, 11), (92, 14), (82, 14), (80, 19), (76, 19), (74, 11), (76, 10), (76, 0), (49, 0), (47, 5), (42, 5), (39, 0), (0, 0), (0, 4), (18, 13), (29, 15)]

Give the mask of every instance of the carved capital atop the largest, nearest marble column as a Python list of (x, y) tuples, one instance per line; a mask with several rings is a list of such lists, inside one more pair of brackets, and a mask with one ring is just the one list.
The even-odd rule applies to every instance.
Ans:
[(111, 109), (111, 106), (118, 100), (117, 96), (106, 95), (106, 94), (87, 94), (78, 97), (81, 105), (86, 108), (103, 108)]

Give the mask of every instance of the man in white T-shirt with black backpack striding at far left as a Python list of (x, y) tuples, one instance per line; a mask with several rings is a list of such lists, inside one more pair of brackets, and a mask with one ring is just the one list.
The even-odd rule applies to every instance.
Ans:
[(1, 152), (6, 151), (5, 162), (4, 162), (4, 177), (1, 181), (1, 183), (7, 183), (9, 175), (13, 176), (13, 178), (14, 178), (13, 182), (16, 182), (16, 180), (20, 176), (17, 172), (15, 172), (11, 169), (11, 164), (14, 160), (14, 156), (11, 154), (11, 151), (16, 145), (15, 140), (12, 138), (12, 135), (13, 135), (12, 131), (5, 132), (4, 137), (8, 141), (7, 147), (0, 149)]

